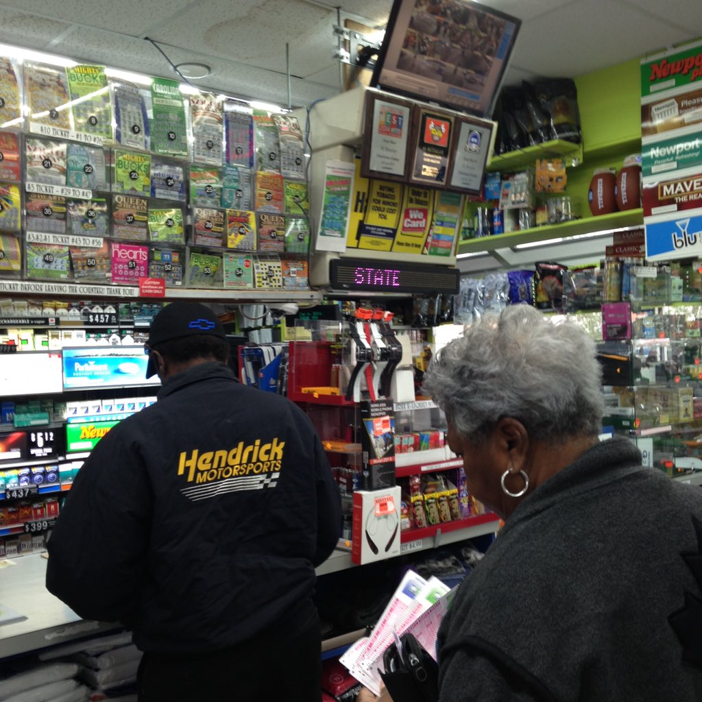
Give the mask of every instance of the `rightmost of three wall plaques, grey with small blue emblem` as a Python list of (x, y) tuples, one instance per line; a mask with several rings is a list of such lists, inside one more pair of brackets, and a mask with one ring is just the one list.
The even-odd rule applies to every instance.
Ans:
[(456, 116), (456, 131), (449, 159), (448, 187), (451, 190), (470, 195), (480, 193), (495, 128), (496, 124), (486, 119)]

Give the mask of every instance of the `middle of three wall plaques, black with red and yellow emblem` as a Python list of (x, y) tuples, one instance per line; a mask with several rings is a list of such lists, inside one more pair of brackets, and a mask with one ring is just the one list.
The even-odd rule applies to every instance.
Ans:
[(412, 166), (409, 182), (444, 187), (448, 182), (454, 119), (416, 105), (412, 119)]

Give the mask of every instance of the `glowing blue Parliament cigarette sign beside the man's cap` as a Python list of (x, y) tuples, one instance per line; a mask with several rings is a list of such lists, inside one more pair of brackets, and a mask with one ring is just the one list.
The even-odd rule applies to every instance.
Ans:
[(66, 348), (63, 351), (63, 388), (158, 385), (156, 376), (146, 379), (148, 362), (149, 357), (141, 346)]

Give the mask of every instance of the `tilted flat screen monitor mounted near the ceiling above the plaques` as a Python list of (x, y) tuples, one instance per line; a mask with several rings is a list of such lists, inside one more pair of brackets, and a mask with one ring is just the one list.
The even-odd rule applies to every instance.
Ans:
[(371, 85), (489, 117), (521, 25), (472, 0), (395, 0)]

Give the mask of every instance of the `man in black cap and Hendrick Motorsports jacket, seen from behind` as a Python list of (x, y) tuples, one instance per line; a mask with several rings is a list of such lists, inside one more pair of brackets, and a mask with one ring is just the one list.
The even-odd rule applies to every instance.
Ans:
[(103, 437), (48, 541), (48, 590), (120, 621), (140, 702), (319, 699), (314, 567), (340, 531), (319, 438), (284, 397), (239, 385), (216, 315), (154, 318), (159, 401)]

